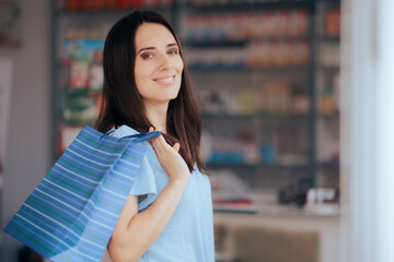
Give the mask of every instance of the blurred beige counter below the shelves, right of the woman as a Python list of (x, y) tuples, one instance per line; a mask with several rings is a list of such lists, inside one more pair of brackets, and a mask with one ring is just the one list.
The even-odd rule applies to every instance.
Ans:
[(273, 193), (250, 205), (215, 204), (217, 262), (339, 261), (338, 205), (280, 205)]

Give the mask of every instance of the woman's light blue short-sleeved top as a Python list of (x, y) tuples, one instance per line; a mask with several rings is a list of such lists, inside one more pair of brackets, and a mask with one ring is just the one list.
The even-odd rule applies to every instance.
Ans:
[[(121, 126), (114, 136), (123, 138), (138, 133)], [(139, 175), (130, 194), (144, 195), (139, 200), (138, 211), (143, 212), (160, 194), (169, 182), (169, 177), (161, 167), (149, 143)], [(143, 253), (140, 262), (213, 262), (213, 218), (212, 198), (209, 178), (195, 166), (187, 188), (170, 223)]]

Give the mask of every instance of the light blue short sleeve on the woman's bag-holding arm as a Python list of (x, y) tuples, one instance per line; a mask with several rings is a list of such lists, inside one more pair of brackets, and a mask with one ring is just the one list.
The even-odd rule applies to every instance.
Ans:
[[(138, 133), (138, 131), (134, 130), (132, 128), (121, 126), (114, 131), (113, 136), (124, 138), (136, 133)], [(140, 144), (146, 146), (149, 145), (148, 142), (142, 142)], [(155, 178), (153, 174), (153, 168), (148, 158), (148, 153), (142, 159), (142, 165), (131, 187), (130, 194), (146, 196), (138, 200), (138, 211), (147, 209), (158, 198)]]

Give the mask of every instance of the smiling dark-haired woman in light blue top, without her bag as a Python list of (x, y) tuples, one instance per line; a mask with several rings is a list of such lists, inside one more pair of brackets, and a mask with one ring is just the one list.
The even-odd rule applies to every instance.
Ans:
[(171, 25), (136, 11), (104, 46), (103, 104), (96, 123), (114, 136), (161, 131), (108, 243), (118, 261), (215, 261), (210, 182), (200, 159), (201, 120)]

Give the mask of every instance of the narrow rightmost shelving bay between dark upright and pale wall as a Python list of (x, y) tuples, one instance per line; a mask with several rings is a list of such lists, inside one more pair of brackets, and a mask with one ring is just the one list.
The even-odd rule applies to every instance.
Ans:
[(338, 188), (340, 1), (318, 1), (316, 11), (316, 186)]

